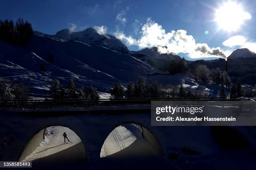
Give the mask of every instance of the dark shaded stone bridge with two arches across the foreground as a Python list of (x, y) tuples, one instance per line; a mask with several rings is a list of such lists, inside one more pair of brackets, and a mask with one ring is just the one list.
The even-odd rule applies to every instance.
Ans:
[[(143, 161), (139, 164), (142, 168), (153, 168), (154, 166), (164, 168), (166, 165), (174, 169), (175, 167), (184, 169), (187, 166), (192, 169), (216, 169), (223, 168), (223, 165), (228, 168), (227, 163), (234, 163), (236, 161), (233, 160), (239, 160), (241, 156), (246, 159), (243, 158), (243, 161), (238, 161), (230, 167), (236, 169), (239, 167), (238, 165), (244, 165), (244, 163), (248, 167), (256, 167), (254, 161), (256, 130), (253, 127), (151, 126), (150, 108), (148, 104), (145, 104), (146, 102), (143, 103), (139, 105), (140, 107), (134, 106), (136, 109), (126, 110), (130, 106), (125, 104), (123, 106), (125, 110), (97, 110), (97, 112), (91, 112), (91, 110), (76, 112), (74, 110), (68, 112), (67, 110), (66, 112), (48, 110), (45, 112), (44, 110), (42, 112), (42, 110), (34, 110), (35, 107), (30, 112), (27, 111), (28, 109), (17, 110), (17, 107), (1, 109), (0, 160), (18, 161), (24, 150), (33, 152), (34, 146), (30, 146), (28, 143), (31, 140), (41, 140), (43, 136), (38, 134), (40, 132), (43, 134), (42, 131), (45, 128), (64, 126), (73, 130), (82, 140), (85, 158), (84, 162), (77, 166), (88, 169), (104, 169), (113, 166), (113, 164), (109, 164), (110, 160), (100, 158), (105, 139), (119, 125), (134, 123), (141, 126), (143, 137), (159, 153), (159, 158), (147, 161), (146, 164), (142, 158)], [(216, 134), (216, 130), (220, 133)], [(235, 136), (233, 136), (234, 134)], [(235, 146), (227, 151), (219, 141), (220, 138), (227, 141), (230, 139), (237, 142), (242, 141), (241, 145), (243, 146), (240, 147), (238, 146), (240, 144), (237, 143), (238, 150)], [(211, 162), (210, 166), (209, 161)], [(123, 160), (118, 161), (119, 164), (126, 165), (126, 168), (129, 167)], [(134, 163), (134, 166), (138, 166), (138, 163)], [(120, 169), (120, 167), (115, 168)], [(112, 167), (112, 169), (115, 168)], [(123, 169), (125, 168), (123, 167)]]

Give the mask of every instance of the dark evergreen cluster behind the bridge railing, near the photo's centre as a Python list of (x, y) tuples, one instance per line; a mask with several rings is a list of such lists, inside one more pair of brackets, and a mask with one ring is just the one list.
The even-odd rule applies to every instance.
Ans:
[(137, 82), (128, 82), (126, 90), (120, 82), (116, 82), (111, 90), (114, 98), (157, 98), (161, 97), (160, 85), (152, 80), (145, 82), (141, 77)]

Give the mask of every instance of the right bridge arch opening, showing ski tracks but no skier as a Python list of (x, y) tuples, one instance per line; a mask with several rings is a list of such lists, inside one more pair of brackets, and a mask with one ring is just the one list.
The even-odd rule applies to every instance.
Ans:
[(156, 137), (146, 128), (134, 123), (116, 127), (102, 145), (100, 158), (142, 158), (163, 155)]

